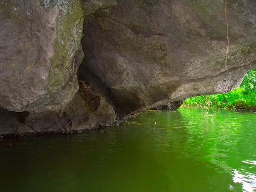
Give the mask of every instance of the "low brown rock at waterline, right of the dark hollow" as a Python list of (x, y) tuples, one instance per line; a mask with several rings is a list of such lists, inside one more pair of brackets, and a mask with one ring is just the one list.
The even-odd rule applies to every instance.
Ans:
[[(63, 111), (31, 113), (25, 118), (25, 124), (34, 129), (33, 134), (56, 133), (57, 131), (58, 133), (77, 133), (110, 126), (118, 121), (115, 110), (105, 99), (97, 98), (92, 101), (91, 105), (85, 104), (81, 95), (76, 93)], [(19, 132), (25, 131), (22, 129)]]

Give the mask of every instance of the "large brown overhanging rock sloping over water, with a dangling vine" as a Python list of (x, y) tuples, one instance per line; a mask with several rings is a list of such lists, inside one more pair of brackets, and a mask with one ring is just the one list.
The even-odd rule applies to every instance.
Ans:
[(123, 115), (228, 92), (256, 67), (256, 2), (227, 2), (225, 66), (224, 0), (82, 1), (81, 71), (108, 87)]

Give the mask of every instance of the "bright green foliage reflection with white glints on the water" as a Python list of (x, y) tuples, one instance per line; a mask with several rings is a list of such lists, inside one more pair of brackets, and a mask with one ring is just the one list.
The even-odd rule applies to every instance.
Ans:
[[(191, 114), (190, 116), (198, 115), (193, 109), (186, 108), (185, 110)], [(233, 175), (233, 183), (229, 185), (231, 191), (237, 191), (240, 188), (244, 192), (256, 191), (254, 166), (256, 161), (243, 160), (243, 158), (255, 157), (255, 116), (251, 116), (251, 113), (236, 112), (235, 117), (234, 113), (221, 110), (213, 113), (210, 111), (209, 115), (198, 115), (197, 123), (193, 119), (188, 121), (186, 126), (189, 127), (189, 133), (193, 135), (193, 138), (191, 141), (187, 140), (187, 145), (195, 145), (195, 140), (200, 141), (202, 146), (195, 145), (194, 150), (204, 148), (202, 150), (206, 151), (204, 159), (210, 162), (207, 167), (214, 168), (218, 173)]]

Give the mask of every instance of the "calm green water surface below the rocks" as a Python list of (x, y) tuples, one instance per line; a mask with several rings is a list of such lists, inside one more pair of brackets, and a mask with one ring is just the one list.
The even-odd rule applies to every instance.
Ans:
[(130, 124), (0, 140), (1, 192), (253, 192), (256, 113), (141, 113)]

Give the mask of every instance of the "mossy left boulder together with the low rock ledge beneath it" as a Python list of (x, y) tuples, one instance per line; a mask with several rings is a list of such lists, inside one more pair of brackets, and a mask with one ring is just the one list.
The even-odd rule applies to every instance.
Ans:
[(85, 106), (99, 93), (78, 93), (83, 22), (80, 0), (1, 1), (0, 135), (77, 132), (116, 122), (105, 99)]

